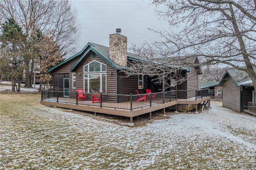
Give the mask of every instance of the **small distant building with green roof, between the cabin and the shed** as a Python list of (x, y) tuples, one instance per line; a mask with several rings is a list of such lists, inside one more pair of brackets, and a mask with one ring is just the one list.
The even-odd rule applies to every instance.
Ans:
[(200, 89), (209, 89), (211, 100), (222, 101), (222, 86), (219, 81), (204, 81), (200, 84)]

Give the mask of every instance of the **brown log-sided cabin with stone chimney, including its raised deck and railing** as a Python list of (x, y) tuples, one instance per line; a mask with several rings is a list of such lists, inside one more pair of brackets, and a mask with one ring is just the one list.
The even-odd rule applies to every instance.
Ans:
[[(86, 111), (122, 115), (132, 118), (136, 115), (151, 113), (151, 111), (178, 104), (191, 104), (193, 106), (192, 109), (197, 109), (196, 106), (202, 102), (202, 98), (204, 98), (202, 99), (203, 101), (209, 99), (207, 98), (206, 91), (198, 90), (198, 74), (200, 73), (198, 67), (191, 67), (190, 69), (182, 67), (178, 69), (178, 74), (176, 74), (175, 78), (183, 77), (184, 81), (165, 90), (162, 83), (156, 82), (156, 77), (150, 77), (141, 73), (127, 77), (122, 70), (129, 69), (128, 63), (141, 61), (141, 58), (133, 53), (127, 52), (127, 37), (120, 33), (121, 29), (116, 29), (115, 34), (110, 34), (109, 47), (89, 42), (79, 53), (49, 69), (48, 73), (52, 73), (53, 77), (53, 91), (43, 92), (41, 103), (57, 105), (56, 103), (52, 104), (44, 101), (52, 101), (54, 99), (59, 103), (60, 100), (58, 99), (62, 97), (62, 101), (65, 101), (64, 103), (66, 105), (58, 104), (58, 107), (67, 108), (68, 103), (72, 103), (73, 101), (71, 102), (71, 100), (76, 99), (76, 90), (82, 89), (85, 93), (84, 95), (86, 95), (86, 102), (82, 102), (88, 108), (89, 106), (98, 105), (100, 108), (129, 110), (126, 113), (126, 111), (109, 111), (106, 108), (105, 110), (97, 108), (97, 110), (96, 108), (84, 109), (84, 107), (80, 107), (81, 110), (84, 109)], [(161, 65), (166, 66), (165, 63), (162, 63), (159, 67)], [(172, 67), (171, 65), (167, 66)], [(170, 73), (170, 75), (172, 74)], [(170, 79), (166, 79), (165, 81), (171, 84)], [(154, 93), (154, 102), (151, 100), (152, 97), (146, 94), (146, 89), (151, 89), (151, 92)], [(136, 90), (139, 94), (136, 94)], [(95, 93), (100, 93), (101, 99), (98, 98), (99, 103), (92, 102)], [(177, 99), (184, 101), (178, 103)], [(160, 106), (160, 103), (165, 104), (166, 101), (170, 103)], [(112, 102), (112, 104), (109, 104), (109, 102)], [(120, 104), (122, 102), (126, 102), (125, 106)], [(76, 100), (75, 103), (79, 105), (81, 101), (78, 102)], [(151, 107), (152, 105), (158, 106), (154, 110), (149, 109), (147, 112), (145, 110), (135, 113), (136, 111), (134, 109), (142, 109), (148, 106)], [(70, 108), (77, 109), (78, 107), (70, 106)], [(177, 108), (176, 110), (178, 110)]]

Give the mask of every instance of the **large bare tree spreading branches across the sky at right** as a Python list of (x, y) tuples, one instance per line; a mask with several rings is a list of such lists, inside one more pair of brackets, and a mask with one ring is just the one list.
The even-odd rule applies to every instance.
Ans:
[(141, 51), (149, 49), (148, 58), (185, 56), (198, 57), (200, 65), (222, 63), (246, 71), (256, 87), (255, 0), (154, 0), (152, 4), (170, 28), (152, 30), (162, 40), (141, 47)]

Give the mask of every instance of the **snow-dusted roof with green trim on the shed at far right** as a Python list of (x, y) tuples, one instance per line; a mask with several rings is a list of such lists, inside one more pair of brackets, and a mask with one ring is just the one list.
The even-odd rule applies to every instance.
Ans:
[[(225, 79), (227, 75), (231, 77), (231, 79), (237, 86), (252, 86), (252, 83), (246, 83), (249, 82), (251, 78), (245, 71), (238, 69), (228, 69), (223, 75), (222, 80)], [(220, 81), (220, 83), (222, 82), (222, 80)]]

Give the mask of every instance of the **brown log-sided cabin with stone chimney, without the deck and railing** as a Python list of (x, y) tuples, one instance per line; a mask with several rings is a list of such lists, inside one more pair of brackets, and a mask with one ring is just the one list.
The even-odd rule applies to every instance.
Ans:
[[(110, 47), (96, 43), (87, 45), (76, 55), (59, 63), (48, 70), (53, 75), (53, 89), (75, 92), (83, 89), (85, 93), (127, 94), (144, 93), (146, 89), (152, 92), (162, 91), (162, 84), (152, 82), (147, 75), (124, 77), (122, 69), (128, 69), (128, 60), (138, 60), (139, 57), (127, 52), (127, 37), (120, 34), (110, 34)], [(180, 75), (189, 77), (179, 85), (177, 90), (198, 89), (197, 68), (182, 68)], [(192, 76), (193, 75), (193, 76)], [(128, 85), (128, 86), (127, 86)], [(169, 89), (168, 89), (169, 90)]]

